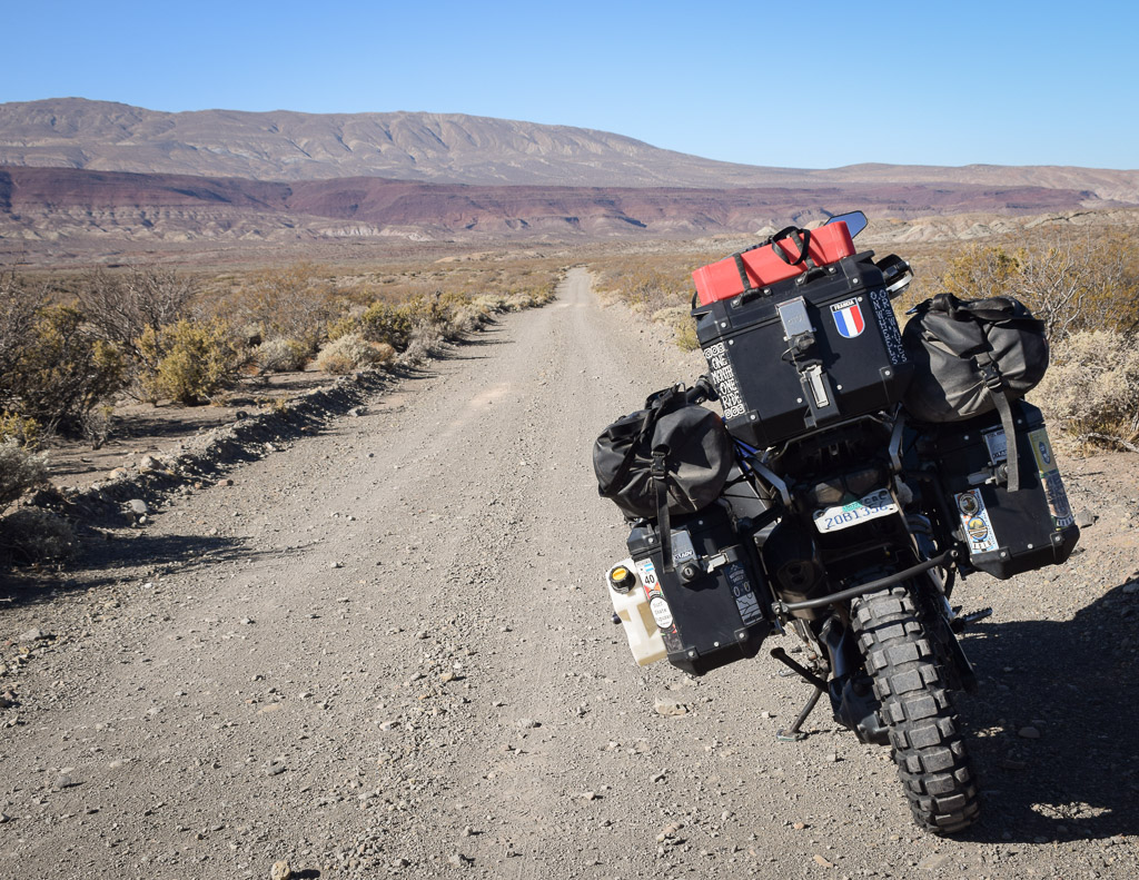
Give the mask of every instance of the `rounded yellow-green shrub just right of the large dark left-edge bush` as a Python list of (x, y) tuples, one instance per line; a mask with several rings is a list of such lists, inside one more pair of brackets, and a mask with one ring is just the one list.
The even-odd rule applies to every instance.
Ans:
[(203, 404), (232, 388), (247, 362), (246, 349), (227, 321), (180, 320), (157, 332), (147, 329), (139, 340), (148, 353), (163, 351), (153, 372), (139, 377), (145, 400), (163, 398), (179, 404)]

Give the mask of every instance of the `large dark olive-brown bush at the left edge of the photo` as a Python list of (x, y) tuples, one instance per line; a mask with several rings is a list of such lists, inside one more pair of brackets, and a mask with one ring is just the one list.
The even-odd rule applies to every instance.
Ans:
[(48, 431), (77, 433), (83, 417), (118, 391), (126, 364), (72, 305), (43, 305), (9, 372), (0, 406)]

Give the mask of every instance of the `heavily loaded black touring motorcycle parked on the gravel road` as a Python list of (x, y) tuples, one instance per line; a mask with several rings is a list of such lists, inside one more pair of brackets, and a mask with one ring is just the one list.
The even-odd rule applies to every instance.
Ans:
[[(954, 584), (1060, 563), (1079, 530), (1039, 410), (1010, 404), (1015, 382), (993, 359), (970, 356), (992, 367), (991, 405), (915, 418), (907, 392), (928, 367), (890, 305), (912, 272), (853, 252), (861, 212), (831, 223), (837, 256), (827, 227), (813, 245), (784, 230), (751, 262), (743, 252), (697, 271), (710, 373), (652, 396), (595, 449), (601, 495), (631, 525), (630, 556), (606, 582), (641, 665), (704, 675), (755, 657), (769, 635), (797, 638), (804, 662), (770, 655), (812, 692), (778, 739), (803, 739), (826, 694), (836, 723), (891, 748), (916, 824), (949, 834), (980, 812), (953, 704), (976, 676), (958, 635), (991, 613), (960, 613)], [(785, 275), (795, 256), (798, 271), (755, 277), (763, 260)], [(968, 305), (947, 308), (961, 318)], [(719, 427), (699, 406), (716, 400)], [(637, 503), (622, 495), (631, 483)]]

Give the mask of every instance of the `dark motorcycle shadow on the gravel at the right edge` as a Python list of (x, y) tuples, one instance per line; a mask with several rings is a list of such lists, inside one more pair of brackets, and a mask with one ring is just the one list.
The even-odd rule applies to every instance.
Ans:
[(1139, 833), (1139, 594), (1124, 593), (1128, 582), (1068, 621), (970, 627), (964, 646), (981, 686), (958, 702), (983, 805), (959, 837)]

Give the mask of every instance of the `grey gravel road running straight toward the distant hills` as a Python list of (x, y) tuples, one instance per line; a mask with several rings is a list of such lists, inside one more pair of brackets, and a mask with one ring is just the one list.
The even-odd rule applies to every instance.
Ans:
[(968, 582), (998, 612), (966, 641), (985, 818), (937, 840), (822, 708), (775, 741), (808, 688), (772, 661), (632, 663), (600, 579), (625, 533), (588, 454), (698, 360), (624, 317), (574, 270), (0, 605), (34, 647), (2, 681), (0, 877), (1133, 877), (1133, 476), (1070, 468), (1095, 553)]

